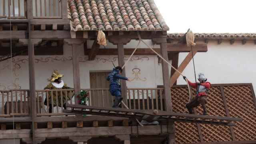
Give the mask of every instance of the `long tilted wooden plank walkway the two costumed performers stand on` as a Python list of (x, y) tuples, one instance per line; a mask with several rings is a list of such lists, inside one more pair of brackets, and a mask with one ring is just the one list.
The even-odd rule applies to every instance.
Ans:
[(63, 110), (66, 113), (92, 114), (100, 116), (116, 116), (126, 118), (137, 118), (138, 120), (147, 121), (176, 121), (192, 122), (199, 124), (213, 124), (235, 126), (234, 121), (241, 122), (242, 118), (221, 117), (221, 116), (204, 116), (194, 114), (183, 114), (174, 112), (165, 112), (160, 110), (131, 110), (124, 108), (105, 108), (85, 105), (67, 104), (71, 110)]

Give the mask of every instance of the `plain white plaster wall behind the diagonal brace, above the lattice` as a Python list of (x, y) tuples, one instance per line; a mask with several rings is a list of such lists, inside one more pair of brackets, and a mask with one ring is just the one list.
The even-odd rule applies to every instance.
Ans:
[[(186, 57), (186, 53), (179, 54), (179, 64)], [(256, 45), (254, 42), (242, 44), (228, 41), (220, 45), (216, 41), (208, 43), (208, 52), (197, 53), (194, 56), (196, 74), (203, 72), (212, 84), (252, 83), (256, 86)], [(185, 68), (183, 74), (194, 81), (192, 61)], [(182, 77), (178, 84), (186, 84)], [(255, 88), (254, 88), (255, 91)], [(255, 91), (256, 92), (256, 91)]]

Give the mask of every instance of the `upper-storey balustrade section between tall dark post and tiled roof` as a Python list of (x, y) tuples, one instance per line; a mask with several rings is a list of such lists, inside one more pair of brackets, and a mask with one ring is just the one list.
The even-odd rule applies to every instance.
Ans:
[(34, 18), (62, 18), (61, 0), (33, 0)]

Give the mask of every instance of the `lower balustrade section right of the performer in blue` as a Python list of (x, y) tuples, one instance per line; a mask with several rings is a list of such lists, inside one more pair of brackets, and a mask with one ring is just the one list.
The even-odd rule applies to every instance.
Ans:
[(128, 88), (128, 107), (137, 110), (164, 110), (162, 88)]

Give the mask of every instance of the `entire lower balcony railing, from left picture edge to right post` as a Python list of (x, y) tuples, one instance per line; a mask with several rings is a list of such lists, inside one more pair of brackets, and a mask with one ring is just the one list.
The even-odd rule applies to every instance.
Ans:
[[(112, 107), (114, 96), (108, 88), (83, 89), (88, 92), (88, 106)], [(29, 116), (29, 90), (0, 90), (0, 117)], [(66, 104), (75, 104), (73, 89), (36, 90), (37, 116), (65, 116)], [(125, 100), (124, 100), (125, 101)], [(129, 88), (127, 106), (137, 110), (164, 110), (164, 94), (162, 88)]]

